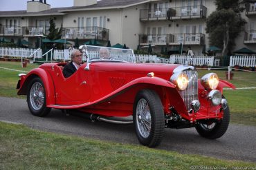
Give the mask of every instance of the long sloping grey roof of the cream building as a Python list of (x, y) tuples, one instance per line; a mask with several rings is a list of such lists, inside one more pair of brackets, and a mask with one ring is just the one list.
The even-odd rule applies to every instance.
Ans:
[[(147, 0), (149, 1), (149, 0)], [(40, 12), (27, 12), (26, 10), (15, 11), (0, 11), (0, 17), (13, 17), (13, 16), (35, 16), (35, 15), (64, 15), (64, 12), (77, 11), (77, 10), (92, 10), (92, 9), (106, 9), (106, 8), (127, 8), (136, 4), (145, 3), (145, 0), (101, 0), (97, 1), (97, 4), (91, 6), (71, 6), (65, 8), (51, 8), (50, 10), (44, 10)]]

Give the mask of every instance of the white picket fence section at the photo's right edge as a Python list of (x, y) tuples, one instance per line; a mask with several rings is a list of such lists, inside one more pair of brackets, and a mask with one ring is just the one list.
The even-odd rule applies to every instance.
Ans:
[(230, 56), (229, 66), (256, 67), (256, 56)]

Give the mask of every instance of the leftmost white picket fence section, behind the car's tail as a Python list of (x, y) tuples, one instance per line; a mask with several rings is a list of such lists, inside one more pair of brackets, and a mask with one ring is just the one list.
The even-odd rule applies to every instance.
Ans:
[(0, 56), (11, 57), (35, 57), (36, 59), (42, 58), (42, 49), (33, 48), (19, 48), (19, 47), (0, 47)]

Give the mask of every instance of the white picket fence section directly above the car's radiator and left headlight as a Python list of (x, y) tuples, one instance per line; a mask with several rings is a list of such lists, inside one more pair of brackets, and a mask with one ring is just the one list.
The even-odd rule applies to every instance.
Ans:
[(214, 56), (170, 56), (170, 64), (208, 65), (213, 66)]

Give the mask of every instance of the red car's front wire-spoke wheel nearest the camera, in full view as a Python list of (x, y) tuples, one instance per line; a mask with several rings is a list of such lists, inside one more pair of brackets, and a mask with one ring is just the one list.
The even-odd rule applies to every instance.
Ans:
[(140, 91), (134, 101), (136, 135), (142, 145), (156, 147), (163, 138), (165, 120), (158, 94), (150, 89)]

